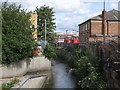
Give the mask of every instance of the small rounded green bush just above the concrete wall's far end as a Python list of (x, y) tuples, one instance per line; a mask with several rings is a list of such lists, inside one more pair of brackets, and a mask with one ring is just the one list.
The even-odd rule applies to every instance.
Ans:
[(49, 44), (46, 45), (46, 47), (43, 51), (43, 55), (45, 55), (49, 59), (57, 57), (55, 48), (52, 45), (49, 45)]

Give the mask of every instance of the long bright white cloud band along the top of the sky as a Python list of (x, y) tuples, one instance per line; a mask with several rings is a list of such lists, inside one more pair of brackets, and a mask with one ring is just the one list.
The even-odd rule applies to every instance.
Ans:
[[(6, 0), (3, 0), (6, 1)], [(87, 4), (80, 0), (8, 0), (8, 2), (16, 2), (22, 4), (25, 9), (34, 10), (36, 6), (49, 5), (54, 7), (56, 12), (74, 12), (79, 8), (88, 7)], [(79, 12), (80, 13), (80, 12)], [(84, 13), (83, 11), (81, 13)]]

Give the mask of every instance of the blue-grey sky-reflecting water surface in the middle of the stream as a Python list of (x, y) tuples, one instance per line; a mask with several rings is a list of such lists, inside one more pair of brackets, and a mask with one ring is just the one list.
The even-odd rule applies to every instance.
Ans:
[(52, 61), (53, 88), (75, 88), (75, 83), (68, 66), (64, 63)]

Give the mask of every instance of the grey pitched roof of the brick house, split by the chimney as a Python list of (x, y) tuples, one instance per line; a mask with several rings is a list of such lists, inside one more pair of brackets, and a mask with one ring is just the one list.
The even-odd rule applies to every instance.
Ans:
[[(119, 14), (120, 11), (112, 9), (107, 13), (107, 20), (120, 20)], [(91, 20), (102, 20), (102, 14), (92, 17)]]

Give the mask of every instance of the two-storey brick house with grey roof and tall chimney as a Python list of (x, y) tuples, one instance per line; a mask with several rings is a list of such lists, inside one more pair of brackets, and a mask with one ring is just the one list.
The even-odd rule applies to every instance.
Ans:
[(120, 35), (118, 32), (118, 25), (120, 24), (119, 13), (120, 11), (115, 9), (108, 12), (103, 10), (102, 14), (79, 24), (80, 42), (88, 43)]

